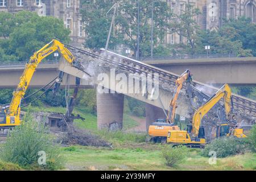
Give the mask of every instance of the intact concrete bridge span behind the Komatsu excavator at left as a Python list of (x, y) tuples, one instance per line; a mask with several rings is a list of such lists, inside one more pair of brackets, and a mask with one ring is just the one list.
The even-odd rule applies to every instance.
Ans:
[[(24, 64), (20, 65), (0, 65), (0, 88), (16, 88), (19, 84), (19, 78), (24, 71)], [(38, 65), (34, 76), (32, 77), (29, 88), (42, 88), (59, 75), (59, 62), (42, 63)], [(67, 74), (64, 75), (61, 87), (65, 86)], [(69, 77), (71, 88), (75, 86), (75, 77)], [(89, 82), (82, 81), (83, 88), (93, 88)]]

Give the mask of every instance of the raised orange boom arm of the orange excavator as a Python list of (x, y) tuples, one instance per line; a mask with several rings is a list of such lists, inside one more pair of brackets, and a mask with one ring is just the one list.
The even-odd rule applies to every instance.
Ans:
[(177, 78), (175, 85), (175, 91), (174, 91), (174, 95), (172, 96), (172, 100), (170, 102), (170, 106), (169, 106), (169, 111), (168, 111), (168, 115), (166, 118), (166, 121), (170, 123), (170, 114), (171, 115), (171, 123), (174, 123), (174, 117), (175, 117), (175, 113), (176, 113), (176, 107), (177, 107), (177, 98), (179, 96), (180, 90), (182, 88), (183, 82), (186, 81), (188, 79), (188, 77), (191, 77), (191, 72), (189, 71), (189, 69), (187, 71), (185, 71), (184, 73), (182, 73), (182, 75)]

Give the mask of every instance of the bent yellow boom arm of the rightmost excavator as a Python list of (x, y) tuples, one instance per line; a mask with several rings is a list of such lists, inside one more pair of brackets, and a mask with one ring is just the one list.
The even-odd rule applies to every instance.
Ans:
[(230, 101), (231, 101), (231, 89), (228, 84), (222, 86), (220, 90), (218, 90), (203, 106), (199, 107), (195, 114), (193, 115), (192, 121), (192, 136), (196, 137), (199, 134), (199, 128), (201, 125), (201, 119), (204, 117), (205, 114), (208, 113), (212, 107), (224, 98), (224, 105), (226, 109), (226, 117), (231, 111)]

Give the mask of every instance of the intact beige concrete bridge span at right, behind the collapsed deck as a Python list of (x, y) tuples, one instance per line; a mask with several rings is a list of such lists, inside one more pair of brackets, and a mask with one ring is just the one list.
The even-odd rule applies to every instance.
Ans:
[(143, 61), (180, 74), (191, 69), (194, 79), (206, 84), (256, 85), (256, 57)]

